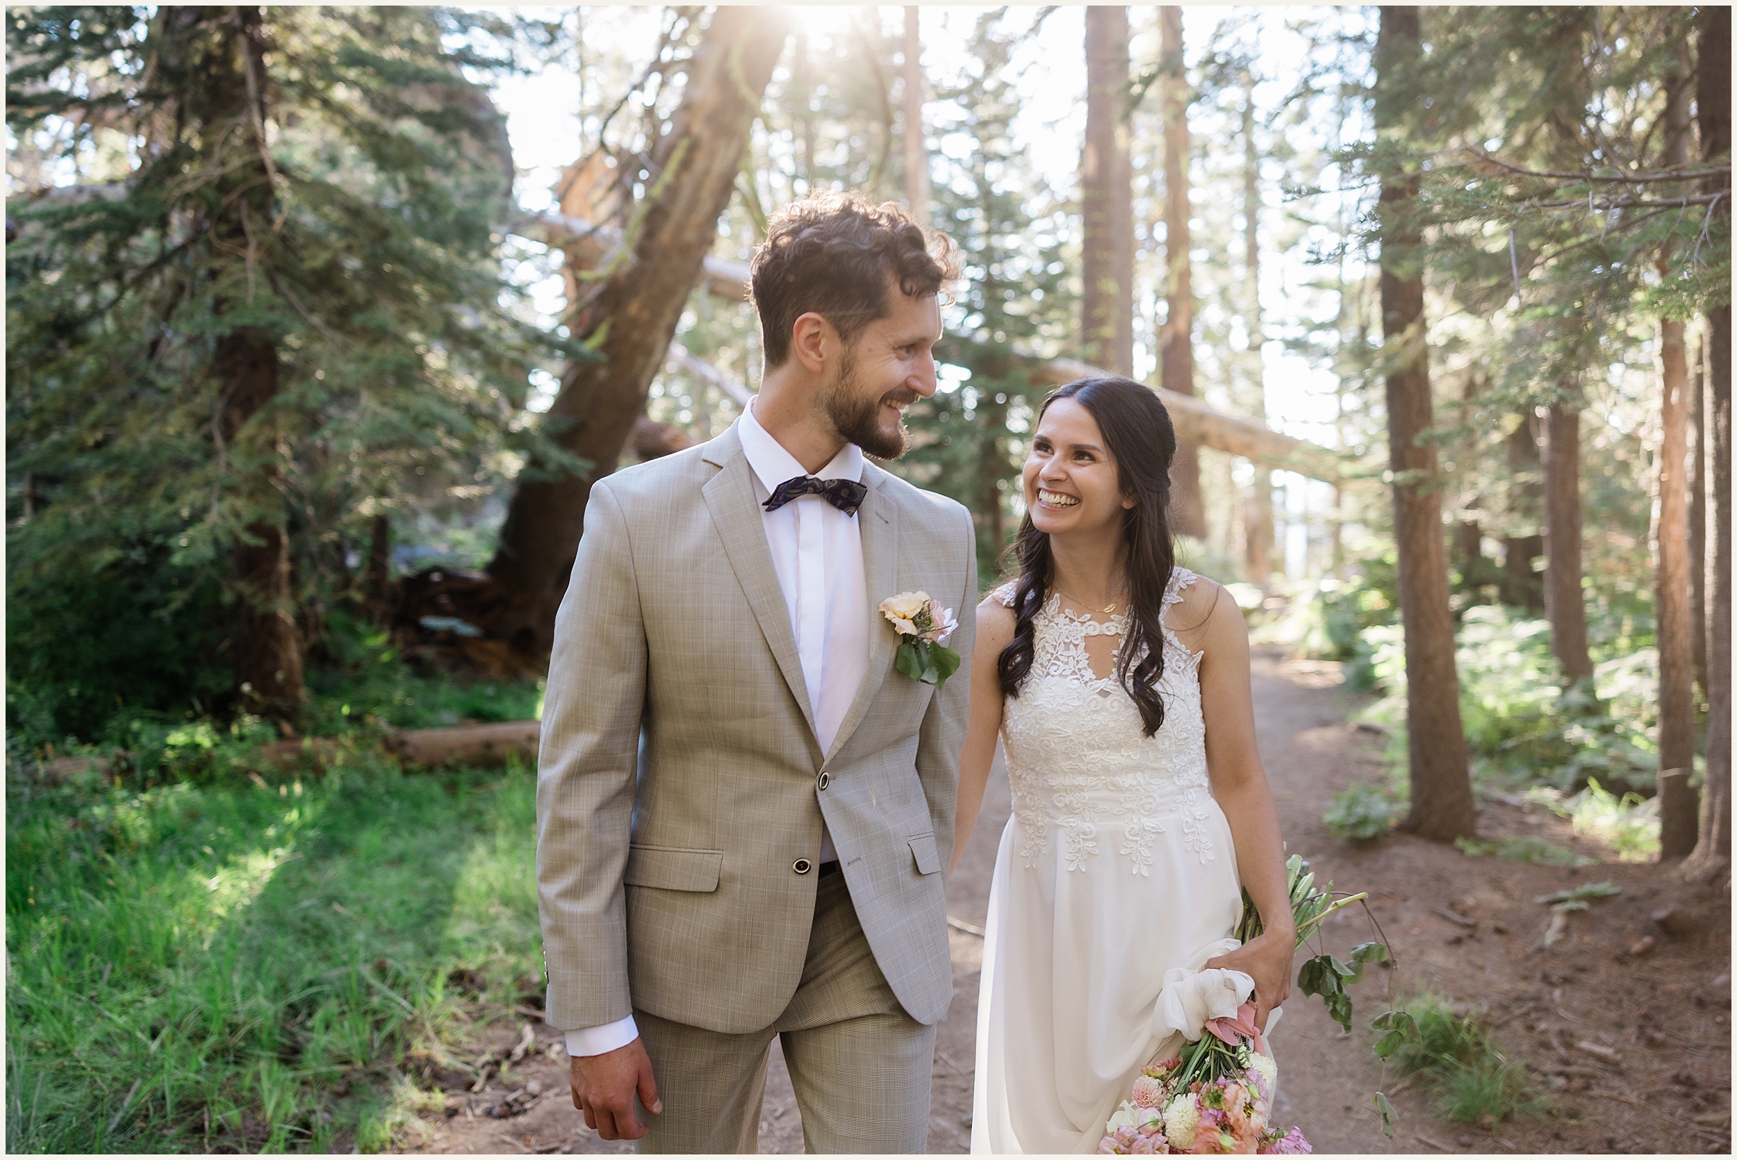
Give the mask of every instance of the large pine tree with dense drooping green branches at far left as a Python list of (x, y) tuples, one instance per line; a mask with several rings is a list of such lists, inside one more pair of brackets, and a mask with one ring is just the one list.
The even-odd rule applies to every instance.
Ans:
[[(33, 497), (9, 537), (12, 672), (56, 728), (233, 684), (294, 714), (320, 587), (301, 564), (417, 471), (469, 478), (525, 443), (512, 408), (545, 347), (497, 307), (511, 161), (462, 73), (505, 61), (443, 47), (485, 28), (504, 30), (443, 9), (9, 10), (14, 135), (43, 165), (99, 158), (14, 201), (7, 264), (7, 443)], [(163, 655), (102, 627), (116, 603)]]

